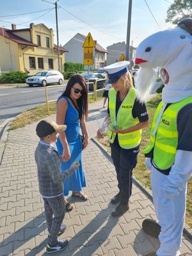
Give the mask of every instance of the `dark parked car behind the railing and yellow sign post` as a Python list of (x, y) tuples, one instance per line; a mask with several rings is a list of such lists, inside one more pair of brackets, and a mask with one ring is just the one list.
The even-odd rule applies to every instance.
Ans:
[[(88, 72), (83, 72), (80, 75), (84, 77), (86, 82), (88, 82)], [(97, 73), (97, 72), (90, 72), (89, 73), (89, 81), (90, 82), (95, 83), (95, 81), (97, 81), (99, 79), (104, 79), (104, 80), (97, 82), (97, 89), (104, 88), (106, 78), (104, 76), (102, 76), (101, 74)], [(89, 84), (89, 89), (93, 90), (93, 84)]]

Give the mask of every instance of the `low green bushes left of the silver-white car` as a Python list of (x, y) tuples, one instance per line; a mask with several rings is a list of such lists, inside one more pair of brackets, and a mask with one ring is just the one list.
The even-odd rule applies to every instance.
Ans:
[(0, 76), (0, 84), (26, 83), (27, 77), (28, 75), (25, 72), (11, 71)]

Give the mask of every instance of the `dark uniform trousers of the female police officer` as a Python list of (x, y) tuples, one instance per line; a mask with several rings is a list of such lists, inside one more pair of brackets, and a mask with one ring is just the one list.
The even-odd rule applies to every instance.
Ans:
[(139, 146), (133, 149), (121, 148), (118, 143), (118, 136), (111, 143), (111, 157), (115, 165), (116, 178), (118, 180), (118, 188), (120, 190), (123, 204), (129, 202), (132, 194), (132, 170), (136, 166)]

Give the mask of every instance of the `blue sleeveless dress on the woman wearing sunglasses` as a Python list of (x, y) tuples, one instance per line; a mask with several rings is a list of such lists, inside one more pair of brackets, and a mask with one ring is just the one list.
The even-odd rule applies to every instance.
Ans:
[[(79, 135), (80, 129), (80, 120), (79, 120), (79, 113), (75, 108), (72, 107), (70, 101), (67, 97), (61, 96), (60, 99), (67, 100), (67, 112), (65, 115), (65, 124), (67, 125), (67, 129), (65, 130), (65, 135), (67, 137), (68, 147), (70, 148), (71, 157), (67, 162), (61, 163), (61, 172), (65, 172), (68, 168), (70, 168), (75, 161), (78, 161), (80, 166), (74, 172), (74, 174), (67, 179), (64, 180), (64, 192), (65, 196), (68, 195), (68, 191), (81, 191), (83, 187), (86, 186), (86, 181), (83, 172), (82, 166), (82, 144), (81, 138)], [(60, 156), (63, 154), (63, 146), (61, 144), (60, 138), (58, 138), (56, 142), (56, 147)]]

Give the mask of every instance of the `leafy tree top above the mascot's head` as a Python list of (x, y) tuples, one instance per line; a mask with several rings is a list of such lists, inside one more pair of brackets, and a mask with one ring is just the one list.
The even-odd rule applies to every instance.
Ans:
[(174, 0), (168, 8), (165, 21), (177, 24), (185, 18), (192, 18), (192, 0)]

